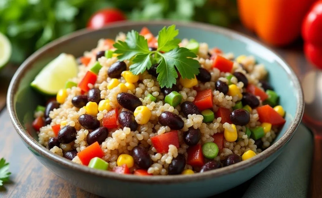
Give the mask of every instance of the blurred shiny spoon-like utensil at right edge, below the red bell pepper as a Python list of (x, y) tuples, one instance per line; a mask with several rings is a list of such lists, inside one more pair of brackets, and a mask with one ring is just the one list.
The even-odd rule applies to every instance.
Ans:
[(311, 169), (311, 197), (322, 197), (322, 72), (310, 71), (303, 80), (305, 109), (304, 124), (314, 136), (314, 153)]

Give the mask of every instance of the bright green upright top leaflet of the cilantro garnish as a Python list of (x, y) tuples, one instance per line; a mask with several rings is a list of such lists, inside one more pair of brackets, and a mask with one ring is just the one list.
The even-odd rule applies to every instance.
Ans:
[(181, 42), (180, 39), (175, 37), (179, 34), (179, 30), (175, 29), (175, 25), (171, 25), (168, 28), (163, 27), (158, 34), (158, 49), (157, 51), (168, 52), (178, 47)]

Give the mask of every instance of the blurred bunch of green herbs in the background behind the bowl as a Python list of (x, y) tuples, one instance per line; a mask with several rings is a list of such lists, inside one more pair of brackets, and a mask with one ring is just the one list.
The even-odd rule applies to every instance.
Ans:
[(44, 44), (86, 27), (96, 11), (115, 7), (130, 20), (172, 19), (228, 26), (237, 18), (236, 0), (0, 0), (0, 32), (21, 63)]

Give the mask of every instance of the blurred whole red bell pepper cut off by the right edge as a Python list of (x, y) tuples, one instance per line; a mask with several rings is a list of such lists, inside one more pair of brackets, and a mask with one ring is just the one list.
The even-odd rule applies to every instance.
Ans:
[(322, 69), (322, 0), (313, 4), (304, 18), (302, 36), (307, 59)]

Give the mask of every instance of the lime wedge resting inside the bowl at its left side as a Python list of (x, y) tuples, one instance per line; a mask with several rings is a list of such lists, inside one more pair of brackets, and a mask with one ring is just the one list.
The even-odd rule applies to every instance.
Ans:
[(55, 95), (65, 87), (67, 80), (77, 76), (77, 72), (75, 57), (62, 53), (40, 71), (30, 86), (43, 94)]

